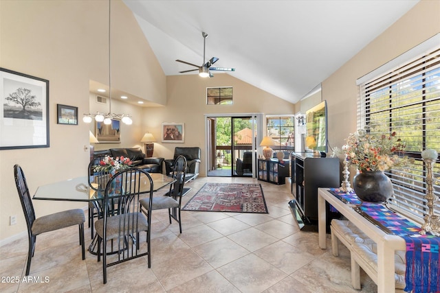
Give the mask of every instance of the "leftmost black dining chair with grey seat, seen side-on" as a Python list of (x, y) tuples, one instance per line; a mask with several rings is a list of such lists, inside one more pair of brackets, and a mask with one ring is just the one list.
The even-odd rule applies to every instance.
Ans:
[(26, 225), (28, 226), (29, 249), (28, 261), (26, 264), (26, 276), (30, 272), (30, 263), (35, 251), (36, 236), (45, 232), (55, 231), (61, 228), (78, 225), (80, 235), (80, 245), (83, 250), (83, 260), (85, 259), (84, 246), (84, 222), (85, 215), (82, 209), (70, 209), (68, 211), (60, 211), (50, 215), (43, 215), (40, 218), (35, 217), (34, 205), (30, 197), (28, 183), (26, 183), (25, 174), (20, 165), (14, 165), (15, 185), (19, 193), (21, 207), (25, 214)]

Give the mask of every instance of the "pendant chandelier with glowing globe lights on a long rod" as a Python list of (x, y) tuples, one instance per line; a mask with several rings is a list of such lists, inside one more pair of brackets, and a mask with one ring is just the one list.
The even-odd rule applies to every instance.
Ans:
[(104, 124), (109, 125), (111, 124), (111, 119), (119, 119), (122, 121), (122, 123), (126, 125), (133, 124), (133, 120), (131, 120), (131, 116), (129, 114), (116, 114), (111, 113), (111, 55), (110, 55), (110, 36), (111, 36), (111, 0), (109, 0), (109, 113), (89, 113), (84, 114), (83, 121), (85, 123), (90, 123), (93, 119), (97, 122), (104, 122)]

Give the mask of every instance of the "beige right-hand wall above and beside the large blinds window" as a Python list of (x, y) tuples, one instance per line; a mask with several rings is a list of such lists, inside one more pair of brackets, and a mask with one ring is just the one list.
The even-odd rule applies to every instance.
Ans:
[(356, 131), (358, 86), (355, 80), (439, 32), (440, 1), (422, 0), (322, 82), (322, 99), (327, 100), (332, 148), (340, 148), (349, 133)]

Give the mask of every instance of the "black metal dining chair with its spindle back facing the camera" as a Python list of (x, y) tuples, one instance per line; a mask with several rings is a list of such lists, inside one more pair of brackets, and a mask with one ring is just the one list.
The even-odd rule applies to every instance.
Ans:
[[(148, 172), (138, 168), (124, 169), (116, 173), (105, 187), (103, 217), (95, 222), (98, 235), (98, 261), (102, 257), (104, 284), (107, 283), (109, 266), (147, 255), (148, 268), (151, 268), (151, 211), (145, 218), (140, 212), (139, 204), (140, 195), (145, 192), (152, 198), (153, 180)], [(117, 204), (114, 204), (115, 202)], [(142, 231), (146, 231), (146, 248), (140, 247), (139, 234)], [(107, 252), (109, 240), (111, 240), (109, 244), (111, 251)], [(117, 256), (114, 257), (113, 254)]]

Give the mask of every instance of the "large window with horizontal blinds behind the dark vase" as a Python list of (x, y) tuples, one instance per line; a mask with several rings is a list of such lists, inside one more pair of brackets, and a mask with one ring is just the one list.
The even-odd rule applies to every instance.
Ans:
[[(427, 170), (421, 151), (440, 151), (440, 47), (360, 84), (358, 114), (358, 126), (368, 126), (371, 133), (396, 132), (406, 145), (406, 155), (415, 159), (404, 169), (386, 174), (394, 187), (391, 204), (423, 218)], [(440, 196), (438, 159), (433, 176), (439, 180), (434, 181), (434, 195)], [(439, 202), (435, 213), (440, 214)]]

